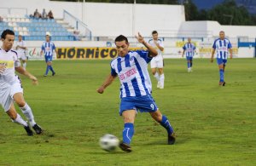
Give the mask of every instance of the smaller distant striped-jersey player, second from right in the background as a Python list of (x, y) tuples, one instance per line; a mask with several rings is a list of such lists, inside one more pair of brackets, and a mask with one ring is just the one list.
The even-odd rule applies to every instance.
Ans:
[[(191, 38), (188, 38), (188, 43), (185, 43), (183, 46), (183, 55), (186, 52), (186, 59), (188, 63), (188, 72), (192, 72), (192, 61), (195, 54), (195, 44), (191, 43)], [(183, 56), (182, 55), (182, 56)]]

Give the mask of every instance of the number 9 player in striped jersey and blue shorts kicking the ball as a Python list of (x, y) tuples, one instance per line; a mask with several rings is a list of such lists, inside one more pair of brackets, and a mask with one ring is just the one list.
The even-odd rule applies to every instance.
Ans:
[(160, 123), (168, 133), (168, 144), (175, 142), (175, 135), (168, 118), (162, 115), (151, 96), (152, 85), (148, 74), (148, 63), (158, 53), (146, 43), (138, 33), (137, 40), (148, 49), (129, 51), (129, 43), (125, 36), (115, 38), (119, 56), (110, 63), (111, 73), (97, 92), (102, 94), (113, 83), (115, 77), (120, 81), (119, 115), (124, 117), (123, 141), (119, 147), (125, 152), (131, 152), (131, 139), (134, 134), (134, 121), (137, 111), (148, 112), (155, 121)]

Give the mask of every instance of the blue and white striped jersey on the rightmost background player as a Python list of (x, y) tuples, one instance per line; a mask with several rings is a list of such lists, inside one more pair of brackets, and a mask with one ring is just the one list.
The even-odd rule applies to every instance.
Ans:
[(218, 59), (227, 60), (229, 49), (232, 48), (232, 45), (229, 39), (224, 38), (224, 40), (221, 40), (220, 38), (218, 38), (214, 41), (212, 48), (217, 50)]

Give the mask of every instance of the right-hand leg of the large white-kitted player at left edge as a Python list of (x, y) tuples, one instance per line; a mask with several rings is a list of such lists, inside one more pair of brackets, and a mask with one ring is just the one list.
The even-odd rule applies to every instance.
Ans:
[(27, 120), (31, 124), (32, 128), (36, 131), (36, 133), (39, 135), (42, 133), (42, 129), (34, 120), (34, 116), (32, 113), (32, 109), (28, 104), (26, 103), (23, 94), (22, 93), (15, 93), (14, 94), (14, 100), (17, 103), (17, 105), (20, 107), (21, 112), (26, 116)]

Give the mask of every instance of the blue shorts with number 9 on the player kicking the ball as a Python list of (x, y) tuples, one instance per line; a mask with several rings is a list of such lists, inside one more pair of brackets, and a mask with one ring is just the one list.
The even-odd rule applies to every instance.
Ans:
[(153, 97), (148, 94), (139, 97), (122, 98), (119, 110), (120, 116), (126, 110), (135, 110), (136, 112), (156, 112), (158, 107), (156, 106)]

